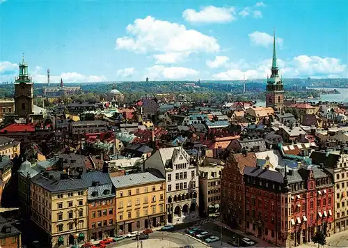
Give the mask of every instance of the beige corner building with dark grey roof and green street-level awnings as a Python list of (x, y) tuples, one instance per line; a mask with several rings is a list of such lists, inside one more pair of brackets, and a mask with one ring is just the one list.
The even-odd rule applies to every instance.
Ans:
[(31, 178), (31, 221), (52, 247), (88, 240), (87, 185), (86, 178), (72, 178), (60, 171)]

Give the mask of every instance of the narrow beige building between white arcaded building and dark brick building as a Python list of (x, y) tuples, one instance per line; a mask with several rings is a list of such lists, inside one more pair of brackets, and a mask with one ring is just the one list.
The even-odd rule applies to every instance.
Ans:
[(224, 162), (205, 157), (199, 167), (200, 215), (215, 215), (220, 212), (221, 171)]

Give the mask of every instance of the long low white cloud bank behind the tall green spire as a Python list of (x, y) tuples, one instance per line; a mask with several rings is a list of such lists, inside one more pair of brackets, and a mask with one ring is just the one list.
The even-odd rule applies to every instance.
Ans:
[[(342, 78), (347, 77), (347, 65), (340, 63), (339, 59), (321, 58), (319, 56), (296, 56), (290, 61), (277, 59), (282, 77), (313, 77), (313, 78)], [(226, 72), (219, 72), (212, 75), (212, 79), (220, 80), (242, 80), (246, 79), (266, 79), (271, 73), (271, 59), (266, 59), (258, 63), (247, 64), (243, 61), (231, 63), (232, 65)]]

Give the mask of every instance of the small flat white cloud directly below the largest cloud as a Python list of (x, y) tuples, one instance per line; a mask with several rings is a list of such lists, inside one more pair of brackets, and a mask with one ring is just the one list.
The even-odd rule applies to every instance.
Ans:
[(191, 68), (184, 67), (165, 67), (164, 65), (153, 65), (150, 68), (146, 68), (145, 77), (150, 79), (196, 79), (198, 71)]

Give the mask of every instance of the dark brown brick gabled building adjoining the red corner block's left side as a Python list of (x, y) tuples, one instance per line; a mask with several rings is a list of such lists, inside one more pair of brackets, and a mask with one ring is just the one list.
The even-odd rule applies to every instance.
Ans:
[(256, 166), (255, 153), (231, 153), (222, 170), (221, 215), (223, 223), (245, 230), (244, 166)]

